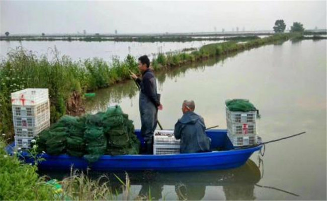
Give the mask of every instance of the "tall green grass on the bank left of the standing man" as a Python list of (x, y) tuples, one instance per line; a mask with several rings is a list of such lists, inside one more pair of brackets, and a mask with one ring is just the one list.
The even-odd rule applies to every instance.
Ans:
[(52, 60), (37, 57), (22, 47), (8, 53), (0, 62), (0, 133), (13, 139), (11, 93), (24, 88), (48, 88), (51, 122), (70, 111), (68, 102), (75, 93), (108, 87), (129, 79), (129, 70), (138, 73), (135, 58), (114, 59), (111, 64), (101, 58), (72, 61), (55, 50)]

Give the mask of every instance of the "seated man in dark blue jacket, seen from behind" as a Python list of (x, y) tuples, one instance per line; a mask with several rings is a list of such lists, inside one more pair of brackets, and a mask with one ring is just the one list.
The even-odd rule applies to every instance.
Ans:
[(174, 135), (181, 139), (181, 153), (208, 152), (210, 139), (205, 133), (204, 120), (194, 113), (193, 100), (184, 100), (183, 117), (175, 124)]

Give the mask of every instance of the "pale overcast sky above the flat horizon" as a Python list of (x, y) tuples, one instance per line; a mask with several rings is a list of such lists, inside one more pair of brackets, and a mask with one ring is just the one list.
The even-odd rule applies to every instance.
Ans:
[(1, 33), (163, 33), (326, 28), (325, 1), (292, 2), (82, 2), (3, 1)]

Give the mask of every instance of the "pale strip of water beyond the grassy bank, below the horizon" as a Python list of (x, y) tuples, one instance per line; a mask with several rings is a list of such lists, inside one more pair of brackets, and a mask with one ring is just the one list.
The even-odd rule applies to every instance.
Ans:
[(128, 54), (140, 57), (144, 54), (150, 58), (158, 52), (182, 51), (184, 48), (200, 48), (209, 43), (223, 41), (192, 41), (192, 42), (83, 42), (83, 41), (0, 41), (0, 58), (18, 46), (23, 46), (40, 56), (46, 54), (53, 58), (54, 48), (60, 55), (68, 55), (73, 60), (100, 57), (111, 61), (113, 57), (125, 59)]

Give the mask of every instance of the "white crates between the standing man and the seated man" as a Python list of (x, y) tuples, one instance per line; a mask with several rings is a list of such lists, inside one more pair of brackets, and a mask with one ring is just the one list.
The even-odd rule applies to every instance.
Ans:
[(174, 131), (159, 130), (155, 131), (153, 136), (154, 155), (180, 154), (180, 140), (176, 140)]

